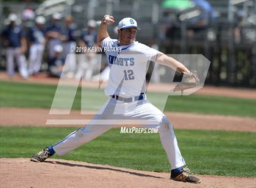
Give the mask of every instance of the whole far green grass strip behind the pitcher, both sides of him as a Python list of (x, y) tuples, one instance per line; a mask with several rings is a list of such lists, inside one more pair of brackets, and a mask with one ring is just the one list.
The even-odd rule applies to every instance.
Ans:
[[(57, 86), (44, 84), (28, 84), (21, 82), (0, 82), (0, 106), (9, 107), (37, 107), (51, 108)], [(71, 86), (62, 87), (65, 96), (59, 104), (62, 107), (73, 102), (69, 94), (76, 92)], [(104, 90), (83, 87), (83, 109), (98, 110), (107, 97)], [(240, 99), (209, 95), (167, 96), (163, 93), (148, 93), (148, 99), (165, 112), (193, 112), (219, 115), (256, 117), (256, 101), (254, 99)], [(77, 89), (73, 109), (80, 109), (81, 88)], [(166, 105), (165, 105), (166, 102)], [(64, 106), (63, 106), (64, 105)], [(71, 104), (72, 106), (72, 104)]]

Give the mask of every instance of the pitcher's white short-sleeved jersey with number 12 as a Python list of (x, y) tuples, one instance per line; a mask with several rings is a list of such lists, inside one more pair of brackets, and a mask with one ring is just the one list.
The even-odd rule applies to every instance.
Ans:
[[(110, 65), (105, 95), (130, 98), (146, 92), (147, 63), (149, 60), (154, 61), (162, 52), (140, 42), (118, 46), (118, 40), (110, 37), (102, 41), (102, 47), (107, 49), (105, 53)], [(121, 51), (116, 50), (118, 48)]]

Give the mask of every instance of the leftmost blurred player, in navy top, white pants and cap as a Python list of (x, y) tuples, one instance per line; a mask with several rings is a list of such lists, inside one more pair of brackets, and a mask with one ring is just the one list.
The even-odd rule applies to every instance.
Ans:
[(16, 22), (18, 17), (15, 14), (8, 16), (9, 25), (1, 32), (1, 38), (4, 47), (6, 47), (6, 69), (10, 77), (14, 76), (15, 66), (14, 58), (18, 63), (18, 70), (23, 78), (28, 78), (27, 62), (24, 53), (27, 51), (26, 39), (20, 25)]

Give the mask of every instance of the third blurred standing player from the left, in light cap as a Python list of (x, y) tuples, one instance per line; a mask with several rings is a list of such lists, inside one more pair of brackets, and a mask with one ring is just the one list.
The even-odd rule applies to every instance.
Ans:
[(60, 33), (62, 28), (60, 27), (60, 19), (62, 15), (60, 13), (54, 13), (52, 15), (52, 22), (46, 29), (46, 39), (48, 39), (48, 57), (49, 59), (54, 58), (54, 47), (55, 45), (62, 44), (60, 41)]

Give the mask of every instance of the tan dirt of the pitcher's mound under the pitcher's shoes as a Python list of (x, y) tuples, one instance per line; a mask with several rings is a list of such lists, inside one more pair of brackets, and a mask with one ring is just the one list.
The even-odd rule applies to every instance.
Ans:
[(1, 158), (0, 187), (255, 187), (256, 178), (199, 175), (201, 184), (169, 180), (169, 173), (146, 172), (62, 159), (45, 163)]

